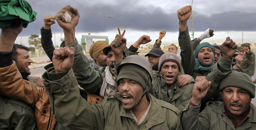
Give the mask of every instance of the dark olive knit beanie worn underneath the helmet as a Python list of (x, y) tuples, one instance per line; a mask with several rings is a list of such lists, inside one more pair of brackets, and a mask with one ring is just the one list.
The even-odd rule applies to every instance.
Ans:
[(127, 64), (127, 65), (123, 65), (123, 67), (120, 68), (120, 72), (118, 74), (118, 80), (117, 80), (118, 85), (119, 85), (120, 79), (123, 79), (123, 78), (128, 78), (130, 80), (138, 82), (143, 87), (144, 90), (145, 90), (147, 79), (148, 79), (148, 84), (151, 83), (151, 78), (148, 71), (146, 71), (144, 68), (136, 64)]

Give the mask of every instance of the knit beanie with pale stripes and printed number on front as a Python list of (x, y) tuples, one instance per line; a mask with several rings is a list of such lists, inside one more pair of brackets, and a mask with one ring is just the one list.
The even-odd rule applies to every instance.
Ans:
[(178, 57), (178, 55), (176, 55), (175, 53), (172, 52), (166, 52), (165, 54), (163, 54), (158, 62), (158, 70), (161, 71), (162, 65), (164, 64), (164, 62), (167, 61), (172, 61), (172, 62), (176, 62), (178, 67), (179, 67), (179, 71), (180, 69), (180, 58)]

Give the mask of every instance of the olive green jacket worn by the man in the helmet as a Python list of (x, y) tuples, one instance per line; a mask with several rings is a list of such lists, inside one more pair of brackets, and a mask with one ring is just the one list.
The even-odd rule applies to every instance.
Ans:
[[(100, 104), (87, 104), (79, 95), (78, 83), (73, 70), (63, 73), (49, 73), (50, 68), (42, 75), (44, 86), (54, 117), (63, 126), (71, 130), (138, 130), (131, 112), (124, 110), (120, 96), (110, 95), (117, 99), (104, 99)], [(140, 130), (182, 130), (180, 110), (172, 104), (151, 99), (151, 107)]]

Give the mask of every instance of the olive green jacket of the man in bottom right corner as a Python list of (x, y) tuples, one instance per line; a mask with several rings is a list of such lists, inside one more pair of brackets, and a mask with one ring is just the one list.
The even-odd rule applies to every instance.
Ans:
[(199, 107), (187, 105), (183, 111), (184, 130), (255, 130), (256, 107), (251, 104), (251, 115), (236, 129), (230, 118), (223, 113), (223, 102), (212, 101), (199, 113)]

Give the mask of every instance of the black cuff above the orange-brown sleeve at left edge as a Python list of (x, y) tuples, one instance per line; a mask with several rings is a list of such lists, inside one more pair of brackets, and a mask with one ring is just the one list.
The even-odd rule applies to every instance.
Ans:
[(13, 50), (10, 52), (0, 52), (0, 68), (13, 64)]

